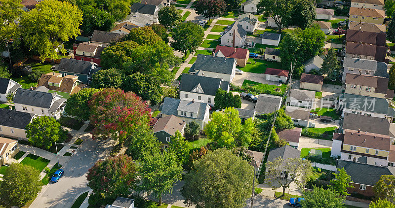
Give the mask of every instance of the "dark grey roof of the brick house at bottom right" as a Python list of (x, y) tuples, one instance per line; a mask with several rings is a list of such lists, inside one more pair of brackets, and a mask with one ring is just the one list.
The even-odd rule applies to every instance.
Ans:
[(344, 168), (351, 180), (357, 184), (374, 186), (382, 175), (392, 175), (386, 167), (337, 160), (336, 168)]

